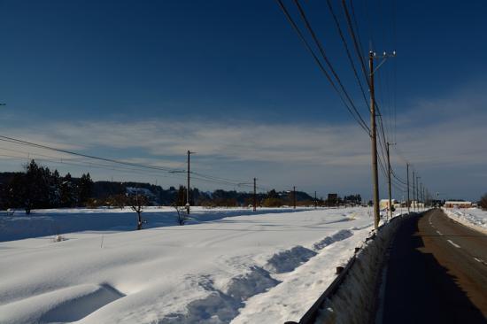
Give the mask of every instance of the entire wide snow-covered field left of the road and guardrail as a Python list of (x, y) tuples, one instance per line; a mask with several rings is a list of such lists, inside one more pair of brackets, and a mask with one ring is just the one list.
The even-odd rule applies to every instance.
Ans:
[(373, 223), (360, 207), (197, 209), (185, 226), (170, 209), (144, 216), (141, 231), (120, 210), (0, 217), (1, 240), (32, 237), (0, 243), (0, 323), (299, 320)]

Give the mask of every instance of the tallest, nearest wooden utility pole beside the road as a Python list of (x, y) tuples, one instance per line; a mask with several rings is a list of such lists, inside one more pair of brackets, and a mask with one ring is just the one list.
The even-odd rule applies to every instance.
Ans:
[(370, 131), (372, 139), (372, 197), (374, 202), (374, 228), (379, 228), (381, 215), (379, 213), (379, 174), (377, 170), (377, 132), (375, 130), (375, 90), (374, 90), (374, 57), (371, 50), (368, 53), (368, 69), (370, 71)]

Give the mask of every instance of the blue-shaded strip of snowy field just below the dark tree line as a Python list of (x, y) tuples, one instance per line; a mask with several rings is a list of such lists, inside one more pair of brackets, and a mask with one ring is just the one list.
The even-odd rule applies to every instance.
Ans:
[[(259, 213), (292, 212), (286, 208), (261, 208)], [(219, 220), (229, 216), (253, 215), (250, 208), (193, 207), (189, 224)], [(177, 225), (177, 212), (173, 207), (146, 207), (143, 228)], [(24, 211), (7, 216), (0, 212), (0, 242), (37, 236), (55, 236), (80, 231), (131, 231), (136, 228), (136, 214), (130, 207), (120, 208), (69, 208), (34, 210), (30, 216)]]

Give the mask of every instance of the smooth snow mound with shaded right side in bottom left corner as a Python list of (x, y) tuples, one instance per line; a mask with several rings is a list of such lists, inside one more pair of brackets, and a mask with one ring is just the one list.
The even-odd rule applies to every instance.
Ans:
[(58, 289), (0, 306), (0, 322), (42, 324), (81, 320), (124, 296), (108, 284)]

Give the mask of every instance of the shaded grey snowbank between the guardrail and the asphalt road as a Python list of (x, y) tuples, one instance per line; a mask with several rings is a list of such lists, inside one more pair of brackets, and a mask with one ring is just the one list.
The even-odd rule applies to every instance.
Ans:
[(367, 238), (356, 254), (350, 270), (345, 274), (344, 282), (321, 306), (315, 323), (349, 324), (367, 323), (372, 320), (383, 258), (404, 217), (408, 216), (393, 218), (390, 223)]

